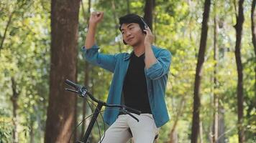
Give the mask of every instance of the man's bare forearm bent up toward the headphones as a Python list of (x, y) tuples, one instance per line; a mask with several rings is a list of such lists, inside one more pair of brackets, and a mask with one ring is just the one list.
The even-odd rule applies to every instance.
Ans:
[(152, 51), (152, 45), (151, 44), (145, 44), (145, 66), (146, 69), (149, 69), (150, 66), (155, 64), (157, 62), (157, 59), (155, 58), (155, 55)]

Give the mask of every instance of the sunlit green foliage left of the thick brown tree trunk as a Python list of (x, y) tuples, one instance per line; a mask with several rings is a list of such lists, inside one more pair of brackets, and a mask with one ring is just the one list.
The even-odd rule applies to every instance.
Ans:
[[(32, 136), (40, 141), (45, 127), (50, 59), (50, 4), (46, 2), (1, 1), (0, 9), (4, 11), (1, 13), (3, 22), (1, 22), (0, 31), (1, 41), (4, 39), (4, 44), (0, 51), (0, 108), (6, 109), (9, 113), (9, 116), (1, 115), (4, 124), (9, 128), (1, 129), (12, 130), (13, 126), (12, 122), (6, 123), (6, 119), (12, 120), (13, 117), (10, 100), (14, 94), (11, 82), (13, 78), (18, 94), (19, 142), (29, 142), (31, 130), (37, 130)], [(7, 21), (10, 23), (4, 37)], [(6, 142), (11, 142), (12, 132), (6, 130), (4, 134), (9, 134)]]

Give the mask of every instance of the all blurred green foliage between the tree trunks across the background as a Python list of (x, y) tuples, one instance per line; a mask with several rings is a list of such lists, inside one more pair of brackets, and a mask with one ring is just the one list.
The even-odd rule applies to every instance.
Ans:
[[(255, 53), (250, 29), (250, 6), (244, 1), (244, 27), (242, 35), (242, 64), (244, 74), (244, 125), (247, 142), (255, 142)], [(172, 65), (166, 91), (166, 104), (170, 122), (160, 129), (159, 142), (168, 142), (170, 130), (177, 120), (176, 132), (179, 142), (189, 142), (193, 112), (193, 84), (196, 73), (198, 47), (204, 1), (155, 1), (153, 33), (155, 44), (171, 51)], [(99, 24), (96, 42), (101, 52), (116, 54), (130, 52), (132, 48), (122, 44), (118, 18), (130, 13), (144, 15), (145, 1), (99, 0), (91, 1), (91, 10), (104, 11), (104, 21)], [(128, 9), (129, 7), (129, 9)], [(88, 26), (88, 1), (83, 1), (79, 16), (78, 83), (85, 80), (85, 61), (81, 47)], [(237, 66), (234, 58), (236, 23), (234, 1), (216, 1), (211, 5), (209, 34), (207, 39), (204, 71), (201, 79), (201, 122), (204, 142), (209, 142), (213, 126), (213, 94), (219, 97), (224, 116), (224, 138), (237, 142)], [(218, 60), (214, 60), (214, 16), (218, 18)], [(50, 72), (50, 1), (23, 0), (0, 1), (0, 142), (12, 142), (11, 78), (17, 83), (17, 127), (19, 142), (43, 142), (46, 109), (49, 94)], [(8, 25), (8, 21), (9, 25)], [(7, 29), (6, 26), (8, 25)], [(6, 34), (4, 31), (6, 30)], [(5, 35), (5, 36), (4, 36)], [(217, 66), (218, 83), (214, 89), (214, 64)], [(111, 73), (99, 67), (88, 66), (88, 89), (99, 99), (106, 101), (111, 83)], [(83, 99), (78, 98), (78, 121), (81, 121)], [(89, 109), (88, 109), (89, 110)], [(87, 114), (90, 114), (88, 111)], [(102, 122), (101, 131), (103, 129)], [(34, 134), (31, 134), (33, 131)], [(78, 129), (80, 134), (81, 129)], [(97, 142), (99, 133), (93, 131)]]

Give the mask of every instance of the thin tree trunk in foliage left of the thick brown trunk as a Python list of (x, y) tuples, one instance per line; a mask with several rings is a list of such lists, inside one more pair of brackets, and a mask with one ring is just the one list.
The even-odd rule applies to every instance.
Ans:
[(17, 109), (18, 109), (18, 99), (19, 99), (19, 92), (17, 92), (17, 83), (14, 79), (14, 77), (11, 78), (12, 80), (12, 97), (11, 97), (11, 101), (12, 101), (12, 122), (14, 124), (14, 129), (12, 130), (12, 137), (13, 137), (13, 142), (14, 143), (18, 143), (19, 139), (18, 139), (18, 132), (17, 132)]

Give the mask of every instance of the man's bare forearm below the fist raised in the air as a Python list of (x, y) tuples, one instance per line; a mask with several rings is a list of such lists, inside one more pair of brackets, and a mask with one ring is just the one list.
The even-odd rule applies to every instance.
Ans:
[(86, 36), (85, 47), (90, 49), (95, 44), (96, 24), (90, 24), (88, 27), (88, 33)]

